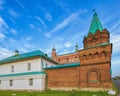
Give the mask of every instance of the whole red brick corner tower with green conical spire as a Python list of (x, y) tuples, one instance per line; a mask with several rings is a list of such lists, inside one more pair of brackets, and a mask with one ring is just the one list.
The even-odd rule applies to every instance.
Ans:
[(83, 40), (84, 49), (79, 50), (80, 87), (111, 87), (112, 44), (109, 32), (103, 29), (97, 13), (94, 13), (89, 33)]

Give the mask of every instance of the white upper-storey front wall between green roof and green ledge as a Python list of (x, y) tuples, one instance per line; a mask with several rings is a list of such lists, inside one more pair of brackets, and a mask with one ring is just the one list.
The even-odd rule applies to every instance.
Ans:
[[(0, 65), (0, 75), (28, 72), (28, 63), (31, 63), (31, 70), (29, 71), (42, 71), (40, 58), (35, 58)], [(11, 72), (11, 66), (14, 66), (14, 72)]]

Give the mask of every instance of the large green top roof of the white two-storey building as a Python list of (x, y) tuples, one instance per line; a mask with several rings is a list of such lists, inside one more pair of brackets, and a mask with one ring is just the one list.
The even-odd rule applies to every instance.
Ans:
[(4, 63), (8, 63), (8, 62), (14, 62), (14, 61), (19, 61), (19, 60), (25, 60), (25, 59), (33, 58), (33, 57), (43, 57), (43, 58), (47, 59), (48, 61), (56, 63), (51, 58), (49, 58), (47, 56), (47, 54), (43, 53), (40, 50), (36, 50), (36, 51), (23, 53), (23, 54), (18, 54), (18, 55), (14, 55), (14, 56), (10, 56), (8, 58), (2, 59), (2, 60), (0, 60), (0, 64), (4, 64)]

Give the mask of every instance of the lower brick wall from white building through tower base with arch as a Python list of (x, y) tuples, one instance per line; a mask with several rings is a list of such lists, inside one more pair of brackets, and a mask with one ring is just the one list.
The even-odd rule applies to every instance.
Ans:
[[(111, 78), (109, 68), (109, 63), (104, 63), (92, 66), (81, 65), (79, 67), (49, 69), (46, 70), (48, 75), (48, 88), (110, 88)], [(92, 72), (97, 72), (97, 76), (94, 73), (92, 74)]]

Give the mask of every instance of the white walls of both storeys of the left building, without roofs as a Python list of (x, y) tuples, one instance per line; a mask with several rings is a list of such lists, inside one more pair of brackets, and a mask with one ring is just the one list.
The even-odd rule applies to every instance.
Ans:
[[(42, 62), (41, 62), (42, 61)], [(28, 63), (31, 63), (31, 70), (28, 71)], [(16, 74), (25, 72), (43, 71), (42, 67), (54, 66), (55, 64), (39, 58), (28, 59), (0, 65), (0, 75)], [(14, 66), (14, 72), (11, 72), (11, 66)], [(29, 86), (29, 79), (33, 79), (33, 86)], [(13, 86), (9, 85), (10, 80), (13, 80)], [(0, 76), (0, 90), (44, 90), (45, 89), (45, 74), (23, 75), (23, 76)]]

